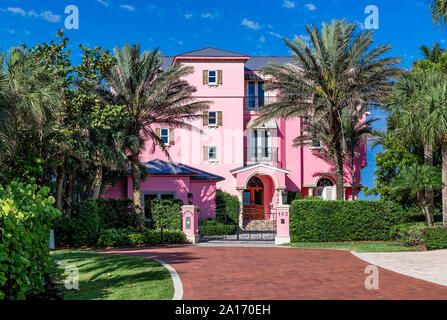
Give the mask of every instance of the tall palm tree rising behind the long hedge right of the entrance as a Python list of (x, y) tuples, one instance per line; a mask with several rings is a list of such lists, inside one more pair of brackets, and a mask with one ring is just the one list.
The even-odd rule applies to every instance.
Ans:
[(337, 199), (343, 199), (343, 128), (341, 113), (348, 106), (379, 105), (391, 92), (391, 78), (401, 74), (399, 58), (381, 58), (390, 46), (373, 43), (372, 31), (360, 31), (356, 24), (334, 20), (321, 32), (306, 26), (310, 44), (302, 38), (284, 39), (294, 62), (270, 63), (261, 69), (275, 81), (265, 90), (277, 91), (278, 101), (260, 109), (258, 122), (283, 117), (326, 114), (333, 148), (330, 159), (335, 168)]

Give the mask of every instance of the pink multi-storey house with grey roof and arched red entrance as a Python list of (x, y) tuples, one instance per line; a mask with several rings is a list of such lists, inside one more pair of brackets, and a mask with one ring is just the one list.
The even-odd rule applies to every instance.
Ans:
[[(203, 119), (193, 123), (201, 129), (187, 131), (156, 128), (169, 146), (173, 163), (159, 150), (151, 153), (150, 142), (141, 162), (151, 173), (141, 185), (143, 197), (180, 198), (200, 208), (201, 218), (215, 216), (216, 188), (237, 195), (245, 211), (259, 212), (268, 219), (285, 203), (285, 192), (335, 199), (333, 167), (316, 156), (313, 147), (292, 147), (300, 135), (301, 119), (276, 119), (261, 125), (253, 120), (259, 107), (276, 99), (265, 92), (259, 69), (268, 62), (289, 63), (292, 57), (248, 56), (214, 48), (204, 48), (163, 57), (163, 68), (181, 63), (192, 66), (187, 80), (197, 88), (196, 98), (210, 101)], [(366, 166), (366, 146), (359, 148), (355, 163), (356, 185)], [(345, 170), (345, 198), (352, 198), (351, 170)], [(109, 187), (105, 195), (132, 197), (132, 181)]]

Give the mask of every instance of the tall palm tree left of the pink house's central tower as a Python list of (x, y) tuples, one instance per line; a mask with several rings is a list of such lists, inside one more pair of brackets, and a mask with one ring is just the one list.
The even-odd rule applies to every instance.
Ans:
[(140, 152), (147, 140), (169, 156), (167, 147), (156, 134), (154, 125), (191, 130), (189, 122), (203, 116), (208, 102), (193, 97), (196, 89), (183, 77), (192, 67), (176, 64), (162, 71), (158, 50), (140, 54), (139, 45), (115, 49), (116, 64), (106, 75), (110, 91), (100, 95), (107, 104), (124, 106), (124, 146), (130, 162), (135, 213), (143, 225), (143, 206), (140, 191)]

